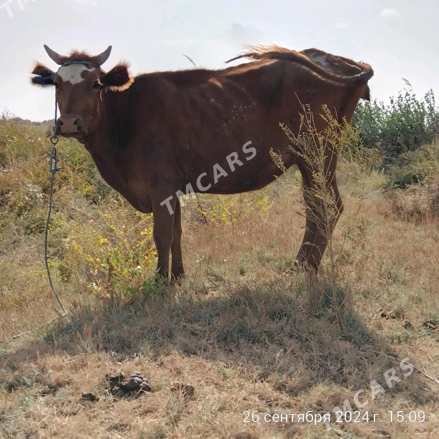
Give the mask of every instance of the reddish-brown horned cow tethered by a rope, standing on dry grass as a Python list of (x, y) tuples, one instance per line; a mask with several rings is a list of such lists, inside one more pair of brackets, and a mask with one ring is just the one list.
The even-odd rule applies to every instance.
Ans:
[[(235, 67), (136, 77), (126, 64), (101, 69), (111, 46), (97, 56), (78, 51), (61, 56), (45, 49), (61, 67), (54, 73), (37, 64), (32, 83), (56, 87), (61, 113), (56, 133), (84, 144), (111, 187), (140, 212), (153, 212), (158, 273), (168, 278), (171, 252), (174, 279), (184, 274), (177, 195), (264, 187), (282, 172), (270, 148), (283, 156), (287, 168), (297, 165), (304, 187), (310, 187), (310, 170), (288, 152), (279, 122), (297, 133), (301, 104), (317, 112), (327, 104), (338, 119), (349, 121), (358, 100), (368, 98), (367, 81), (373, 76), (370, 65), (317, 49), (252, 47), (237, 58), (254, 61)], [(324, 129), (324, 120), (315, 120), (317, 129)], [(342, 212), (336, 161), (327, 163), (327, 184)], [(308, 215), (297, 262), (317, 269), (326, 245)]]

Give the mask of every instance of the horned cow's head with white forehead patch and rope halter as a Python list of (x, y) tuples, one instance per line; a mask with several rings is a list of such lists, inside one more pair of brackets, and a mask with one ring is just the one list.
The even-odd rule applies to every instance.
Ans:
[(101, 114), (101, 95), (107, 90), (126, 90), (134, 78), (124, 63), (104, 72), (101, 65), (107, 61), (112, 47), (96, 56), (86, 52), (73, 51), (61, 56), (44, 46), (49, 57), (61, 67), (52, 72), (37, 63), (32, 74), (32, 84), (54, 86), (60, 110), (56, 133), (64, 137), (75, 137), (84, 143), (86, 136), (97, 129)]

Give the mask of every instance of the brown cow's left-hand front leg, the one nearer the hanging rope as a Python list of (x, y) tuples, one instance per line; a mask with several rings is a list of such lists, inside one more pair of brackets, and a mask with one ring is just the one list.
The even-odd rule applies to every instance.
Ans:
[(158, 274), (163, 279), (168, 281), (169, 251), (173, 241), (176, 197), (174, 196), (172, 200), (162, 205), (161, 203), (163, 200), (166, 200), (166, 197), (164, 197), (163, 200), (159, 200), (160, 198), (154, 200), (152, 205), (152, 214), (154, 219), (153, 237), (158, 254)]

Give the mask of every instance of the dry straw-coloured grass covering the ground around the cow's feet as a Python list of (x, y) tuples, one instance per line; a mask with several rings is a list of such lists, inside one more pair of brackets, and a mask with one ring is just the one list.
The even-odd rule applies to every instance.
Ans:
[[(128, 295), (114, 291), (108, 297), (111, 284), (104, 274), (90, 272), (83, 256), (65, 241), (68, 235), (85, 252), (92, 248), (107, 252), (111, 246), (105, 242), (90, 244), (94, 229), (98, 241), (101, 236), (113, 239), (101, 224), (105, 218), (120, 226), (119, 231), (126, 224), (129, 230), (121, 235), (122, 241), (137, 242), (145, 225), (140, 225), (133, 209), (115, 203), (114, 216), (110, 218), (107, 210), (99, 216), (83, 201), (85, 194), (69, 195), (65, 190), (61, 197), (60, 192), (58, 215), (64, 212), (72, 218), (58, 217), (50, 248), (56, 287), (69, 315), (15, 340), (11, 335), (38, 327), (57, 309), (40, 270), (41, 235), (14, 235), (12, 225), (4, 223), (0, 435), (439, 437), (438, 386), (417, 373), (404, 378), (398, 362), (370, 352), (408, 356), (417, 367), (439, 377), (439, 334), (423, 326), (427, 320), (439, 320), (437, 219), (414, 222), (387, 215), (389, 203), (380, 189), (383, 177), (370, 173), (363, 178), (364, 195), (353, 221), (359, 208), (358, 174), (353, 178), (353, 168), (346, 163), (341, 171), (345, 212), (333, 245), (343, 332), (327, 283), (331, 273), (327, 257), (318, 276), (291, 268), (304, 226), (294, 172), (258, 195), (272, 204), (269, 210), (247, 212), (248, 199), (241, 199), (246, 214), (236, 221), (212, 216), (214, 220), (205, 224), (194, 214), (197, 206), (188, 205), (183, 227), (187, 278), (178, 288), (158, 288), (151, 294), (145, 294), (151, 286), (144, 285), (144, 290), (139, 287)], [(203, 209), (209, 205), (208, 199), (201, 202)], [(72, 203), (75, 210), (68, 210)], [(22, 227), (20, 221), (25, 219), (19, 219), (16, 227)], [(73, 234), (74, 224), (80, 225), (80, 234)], [(343, 241), (343, 252), (338, 252)], [(114, 238), (111, 244), (116, 242)], [(144, 252), (149, 251), (147, 245)], [(128, 252), (123, 254), (128, 257)], [(60, 261), (70, 265), (71, 273), (62, 274)], [(151, 275), (148, 270), (143, 275), (120, 274), (120, 279), (143, 285)], [(87, 288), (93, 282), (100, 291)], [(391, 367), (401, 381), (388, 389), (383, 373)], [(136, 370), (147, 376), (154, 392), (136, 397), (109, 391), (105, 374)], [(374, 379), (386, 392), (371, 400)], [(193, 385), (194, 396), (183, 398), (171, 391), (175, 382)], [(52, 392), (41, 396), (44, 385)], [(343, 407), (346, 398), (355, 410), (353, 396), (362, 388), (370, 400), (362, 413), (377, 413), (382, 422), (333, 424), (329, 432), (323, 424), (243, 422), (245, 410), (324, 414)], [(82, 392), (94, 392), (100, 400), (83, 401)], [(390, 422), (388, 410), (394, 417), (397, 410), (407, 414), (423, 410), (426, 420)]]

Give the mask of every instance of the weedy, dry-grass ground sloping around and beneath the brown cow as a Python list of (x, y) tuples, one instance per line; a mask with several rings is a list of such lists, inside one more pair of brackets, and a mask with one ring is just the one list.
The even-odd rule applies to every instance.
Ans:
[[(61, 139), (48, 246), (64, 317), (43, 261), (50, 143), (0, 120), (0, 435), (439, 437), (437, 124), (394, 135), (389, 109), (380, 144), (378, 110), (358, 111), (338, 167), (345, 211), (317, 275), (293, 265), (296, 169), (261, 191), (187, 202), (187, 277), (168, 286), (155, 281), (151, 215)], [(118, 389), (108, 376), (121, 371), (140, 371), (151, 392)], [(335, 414), (346, 400), (352, 419)], [(331, 429), (302, 422), (309, 410), (330, 412)]]

